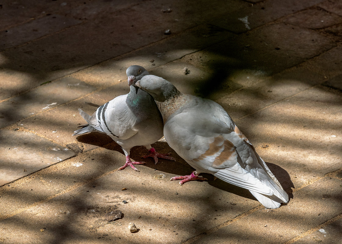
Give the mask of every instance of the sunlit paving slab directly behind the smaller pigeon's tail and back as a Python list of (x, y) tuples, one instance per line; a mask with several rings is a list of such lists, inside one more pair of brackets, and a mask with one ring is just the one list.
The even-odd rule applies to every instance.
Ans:
[[(76, 80), (73, 77), (69, 78), (71, 80)], [(67, 102), (65, 104), (59, 105), (55, 109), (44, 111), (38, 115), (22, 119), (16, 125), (19, 128), (34, 131), (42, 137), (48, 138), (49, 140), (64, 146), (72, 143), (77, 144), (77, 137), (73, 136), (74, 131), (79, 129), (77, 128), (77, 126), (84, 125), (86, 123), (81, 115), (79, 115), (78, 109), (80, 108), (89, 115), (92, 115), (97, 108), (87, 105), (86, 102), (102, 105), (117, 96), (127, 94), (129, 92), (127, 80), (121, 82), (116, 81), (113, 83), (113, 86), (108, 87), (104, 90), (94, 91), (89, 95), (83, 96), (81, 99)], [(84, 84), (84, 86), (86, 87), (90, 86), (87, 83), (80, 84)], [(73, 86), (73, 89), (82, 91), (82, 89), (84, 88), (77, 85)], [(107, 135), (98, 134), (100, 133), (95, 133), (94, 137), (101, 138), (103, 144), (100, 143), (100, 145), (104, 145), (112, 141)], [(80, 146), (83, 147), (83, 150), (90, 150), (94, 148), (93, 146), (89, 146), (87, 144), (81, 144)]]

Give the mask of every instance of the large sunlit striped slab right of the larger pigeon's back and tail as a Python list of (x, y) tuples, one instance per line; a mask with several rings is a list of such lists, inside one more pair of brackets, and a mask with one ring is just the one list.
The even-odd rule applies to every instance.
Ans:
[(284, 168), (297, 188), (341, 168), (341, 101), (337, 90), (318, 86), (235, 123), (260, 156)]

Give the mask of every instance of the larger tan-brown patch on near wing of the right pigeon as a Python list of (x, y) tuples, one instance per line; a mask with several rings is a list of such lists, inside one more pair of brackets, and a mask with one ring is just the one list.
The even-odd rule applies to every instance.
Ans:
[(222, 135), (219, 137), (215, 137), (214, 141), (209, 144), (209, 149), (199, 156), (194, 161), (199, 161), (202, 159), (206, 159), (207, 157), (214, 156), (219, 153), (219, 156), (216, 156), (213, 166), (220, 167), (223, 163), (232, 158), (232, 155), (236, 153), (235, 147), (232, 142), (224, 139)]

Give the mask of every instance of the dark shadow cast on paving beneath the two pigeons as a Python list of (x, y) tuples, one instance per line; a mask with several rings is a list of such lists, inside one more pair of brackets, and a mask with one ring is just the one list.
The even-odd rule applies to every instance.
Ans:
[[(82, 134), (79, 135), (76, 138), (76, 140), (82, 143), (103, 147), (108, 150), (113, 150), (121, 154), (124, 154), (121, 146), (114, 142), (108, 135), (103, 133), (91, 132), (88, 134)], [(158, 159), (158, 163), (155, 164), (153, 158), (143, 159), (142, 156), (148, 154), (147, 149), (144, 146), (133, 147), (131, 149), (130, 157), (135, 161), (146, 162), (146, 164), (144, 164), (145, 167), (149, 167), (151, 169), (162, 171), (169, 174), (188, 175), (192, 171), (194, 171), (194, 169), (183, 158), (181, 158), (172, 148), (169, 147), (167, 142), (158, 141), (152, 144), (152, 146), (159, 153), (171, 153), (171, 156), (175, 158), (176, 161)], [(122, 162), (122, 164), (123, 163), (124, 162)], [(292, 188), (294, 188), (294, 185), (287, 171), (274, 163), (266, 162), (266, 165), (271, 170), (271, 172), (276, 176), (277, 180), (284, 188), (284, 190), (288, 193), (289, 198), (293, 198)], [(218, 188), (229, 193), (233, 193), (240, 197), (255, 200), (255, 198), (249, 190), (229, 184), (220, 179), (215, 180), (214, 176), (211, 174), (203, 173), (201, 175), (207, 178), (208, 184), (215, 188)]]

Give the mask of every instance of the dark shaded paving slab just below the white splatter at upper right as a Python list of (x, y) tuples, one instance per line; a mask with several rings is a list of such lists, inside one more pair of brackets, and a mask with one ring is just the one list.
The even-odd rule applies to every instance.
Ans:
[[(233, 65), (232, 69), (275, 74), (334, 46), (336, 43), (314, 30), (276, 23), (242, 33), (205, 51), (239, 60), (239, 63), (227, 63), (228, 67)], [(219, 65), (215, 61), (211, 64)]]

